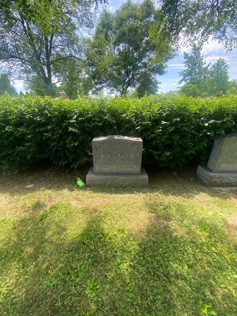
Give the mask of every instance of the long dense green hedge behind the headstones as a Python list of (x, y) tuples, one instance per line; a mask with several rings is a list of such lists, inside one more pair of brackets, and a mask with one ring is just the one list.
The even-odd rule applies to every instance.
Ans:
[(237, 96), (0, 98), (0, 166), (17, 171), (46, 160), (76, 168), (103, 135), (143, 139), (143, 165), (184, 166), (208, 159), (215, 137), (237, 132)]

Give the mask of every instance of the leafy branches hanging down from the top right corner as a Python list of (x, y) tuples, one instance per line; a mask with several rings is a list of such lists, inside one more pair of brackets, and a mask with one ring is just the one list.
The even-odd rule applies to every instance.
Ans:
[(200, 46), (210, 36), (230, 51), (237, 47), (236, 0), (158, 0), (156, 21), (150, 33), (154, 42), (164, 37), (173, 44)]

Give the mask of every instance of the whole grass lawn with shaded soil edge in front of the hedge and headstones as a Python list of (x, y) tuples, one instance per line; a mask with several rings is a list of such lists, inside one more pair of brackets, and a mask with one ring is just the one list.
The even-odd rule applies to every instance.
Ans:
[(1, 172), (0, 315), (237, 315), (237, 191), (175, 171), (84, 190), (86, 169)]

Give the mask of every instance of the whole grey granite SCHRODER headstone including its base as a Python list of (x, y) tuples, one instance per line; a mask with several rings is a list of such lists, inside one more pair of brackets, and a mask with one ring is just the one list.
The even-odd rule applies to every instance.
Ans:
[(93, 165), (87, 185), (144, 187), (148, 176), (141, 168), (143, 141), (137, 137), (106, 136), (92, 140)]

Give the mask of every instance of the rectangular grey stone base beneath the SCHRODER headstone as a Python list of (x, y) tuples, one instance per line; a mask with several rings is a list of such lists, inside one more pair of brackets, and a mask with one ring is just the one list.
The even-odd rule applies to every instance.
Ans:
[(140, 174), (108, 174), (94, 173), (94, 168), (91, 167), (86, 176), (86, 184), (87, 186), (141, 188), (148, 185), (148, 176), (144, 168), (141, 168)]

